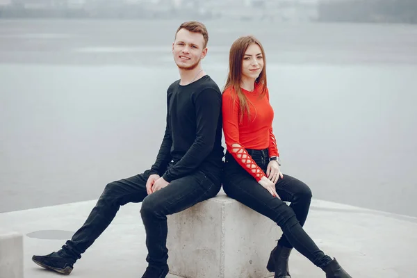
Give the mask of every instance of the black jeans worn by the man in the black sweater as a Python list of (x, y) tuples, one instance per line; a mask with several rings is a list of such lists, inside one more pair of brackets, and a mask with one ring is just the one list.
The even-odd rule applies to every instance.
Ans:
[(100, 234), (108, 227), (120, 206), (142, 202), (140, 214), (145, 224), (149, 265), (167, 265), (167, 217), (217, 195), (221, 185), (214, 184), (202, 171), (196, 171), (172, 181), (161, 190), (147, 195), (149, 170), (142, 174), (108, 183), (83, 226), (63, 250), (74, 259), (80, 259)]

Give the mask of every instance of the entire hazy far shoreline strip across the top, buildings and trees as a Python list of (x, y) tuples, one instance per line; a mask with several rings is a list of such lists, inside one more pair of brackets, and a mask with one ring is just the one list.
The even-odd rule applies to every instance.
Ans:
[[(53, 3), (52, 1), (51, 3)], [(117, 20), (219, 20), (236, 22), (323, 22), (417, 24), (414, 0), (320, 0), (316, 3), (252, 3), (231, 7), (195, 2), (186, 7), (173, 3), (129, 3), (111, 6), (8, 3), (0, 6), (0, 19), (117, 19)], [(29, 6), (27, 6), (29, 5)], [(217, 6), (216, 6), (217, 5)], [(233, 8), (233, 9), (231, 9)]]

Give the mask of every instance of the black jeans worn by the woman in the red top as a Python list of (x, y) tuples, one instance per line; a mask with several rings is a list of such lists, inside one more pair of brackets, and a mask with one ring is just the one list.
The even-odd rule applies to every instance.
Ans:
[[(266, 173), (268, 149), (247, 149), (247, 152)], [(281, 227), (283, 236), (278, 241), (279, 245), (294, 247), (319, 268), (332, 261), (302, 229), (311, 202), (311, 190), (305, 183), (284, 174), (284, 179), (279, 178), (275, 186), (281, 199), (273, 197), (229, 152), (226, 153), (222, 176), (224, 192), (229, 197), (265, 215)], [(291, 205), (285, 202), (291, 202)]]

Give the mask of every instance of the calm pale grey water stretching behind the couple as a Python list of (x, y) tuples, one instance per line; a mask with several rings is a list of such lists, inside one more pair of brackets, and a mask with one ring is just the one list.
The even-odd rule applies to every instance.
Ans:
[[(182, 21), (0, 21), (0, 212), (97, 199), (152, 165)], [(313, 198), (417, 216), (417, 26), (204, 23), (220, 87), (231, 42), (263, 43), (284, 174)]]

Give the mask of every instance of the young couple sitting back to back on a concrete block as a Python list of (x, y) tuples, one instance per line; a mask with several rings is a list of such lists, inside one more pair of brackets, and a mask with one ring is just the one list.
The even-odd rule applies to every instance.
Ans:
[[(207, 42), (206, 27), (199, 22), (185, 22), (175, 34), (172, 54), (181, 79), (167, 89), (165, 135), (154, 165), (142, 174), (108, 183), (71, 240), (58, 252), (33, 256), (35, 263), (69, 275), (120, 206), (142, 202), (148, 251), (142, 278), (166, 277), (167, 215), (214, 197), (223, 186), (229, 197), (281, 227), (283, 236), (266, 265), (275, 278), (291, 277), (288, 257), (293, 247), (327, 278), (351, 278), (302, 229), (311, 201), (309, 187), (279, 169), (261, 43), (250, 36), (234, 42), (229, 77), (221, 92), (202, 70)], [(222, 128), (227, 145), (224, 163)]]

